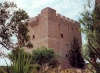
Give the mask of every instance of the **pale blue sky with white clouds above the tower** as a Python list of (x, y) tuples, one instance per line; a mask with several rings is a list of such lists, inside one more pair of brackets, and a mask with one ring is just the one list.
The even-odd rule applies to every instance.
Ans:
[[(0, 0), (4, 2), (5, 0)], [(6, 0), (8, 1), (8, 0)], [(46, 7), (51, 7), (63, 16), (78, 21), (81, 18), (80, 13), (84, 11), (84, 4), (87, 0), (9, 0), (14, 1), (17, 6), (24, 9), (30, 17), (37, 16), (41, 10)], [(93, 1), (93, 0), (92, 0)], [(82, 35), (82, 37), (85, 37)], [(83, 43), (86, 41), (83, 39)], [(10, 61), (6, 58), (8, 64)], [(4, 59), (0, 59), (0, 65), (5, 65)]]

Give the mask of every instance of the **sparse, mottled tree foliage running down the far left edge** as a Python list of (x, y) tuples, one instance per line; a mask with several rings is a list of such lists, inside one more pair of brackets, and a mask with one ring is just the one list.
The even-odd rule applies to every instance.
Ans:
[(11, 11), (14, 11), (13, 8), (15, 7), (16, 4), (13, 2), (0, 3), (0, 45), (6, 49), (13, 48), (10, 38), (14, 30), (12, 29), (12, 23), (8, 20), (10, 20)]

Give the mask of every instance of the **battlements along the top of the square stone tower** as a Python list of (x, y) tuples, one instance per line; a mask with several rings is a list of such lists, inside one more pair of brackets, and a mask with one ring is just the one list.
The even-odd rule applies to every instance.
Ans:
[(40, 18), (42, 20), (44, 20), (44, 18), (45, 19), (49, 18), (49, 19), (52, 19), (52, 20), (56, 20), (56, 17), (60, 18), (62, 21), (67, 21), (67, 22), (70, 22), (70, 23), (78, 23), (79, 24), (79, 22), (77, 22), (77, 21), (74, 21), (74, 20), (72, 20), (70, 18), (67, 18), (67, 17), (65, 17), (65, 16), (63, 16), (63, 15), (61, 15), (59, 13), (56, 13), (56, 10), (54, 10), (54, 9), (52, 9), (50, 7), (47, 7), (45, 9), (43, 9), (41, 11), (41, 13), (38, 14), (38, 16), (36, 16), (34, 18), (31, 18), (29, 22), (37, 21)]

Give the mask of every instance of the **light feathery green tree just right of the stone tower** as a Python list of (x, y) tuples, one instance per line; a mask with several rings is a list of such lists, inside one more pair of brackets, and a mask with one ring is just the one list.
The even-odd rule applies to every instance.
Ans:
[(91, 7), (90, 0), (88, 0), (87, 7), (85, 6), (84, 12), (81, 13), (82, 18), (79, 19), (79, 22), (83, 25), (81, 28), (82, 32), (86, 35), (88, 43), (93, 43), (93, 11)]

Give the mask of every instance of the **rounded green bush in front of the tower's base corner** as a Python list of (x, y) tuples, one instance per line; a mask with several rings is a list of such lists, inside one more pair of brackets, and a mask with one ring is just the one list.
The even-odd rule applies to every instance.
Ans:
[(58, 57), (55, 52), (46, 47), (38, 48), (32, 51), (33, 60), (41, 66), (49, 65), (51, 67), (58, 66)]

